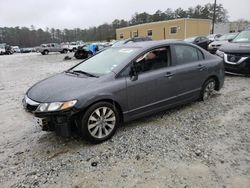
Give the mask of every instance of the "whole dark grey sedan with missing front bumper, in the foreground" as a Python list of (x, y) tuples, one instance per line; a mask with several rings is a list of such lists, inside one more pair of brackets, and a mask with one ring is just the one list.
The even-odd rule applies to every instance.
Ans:
[(32, 86), (23, 99), (45, 131), (99, 143), (119, 125), (194, 100), (224, 83), (221, 58), (179, 41), (108, 48)]

